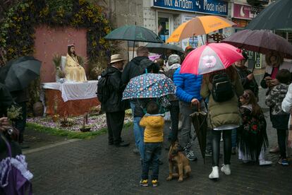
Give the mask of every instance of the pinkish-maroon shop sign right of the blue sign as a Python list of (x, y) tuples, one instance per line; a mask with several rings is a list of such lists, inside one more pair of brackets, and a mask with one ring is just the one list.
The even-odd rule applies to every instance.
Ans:
[(233, 4), (233, 18), (241, 18), (245, 20), (253, 20), (262, 8), (255, 6), (248, 6), (243, 4)]

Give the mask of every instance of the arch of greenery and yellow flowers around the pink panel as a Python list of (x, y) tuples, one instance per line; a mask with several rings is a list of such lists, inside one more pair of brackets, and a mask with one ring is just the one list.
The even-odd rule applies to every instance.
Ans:
[(0, 23), (0, 45), (7, 60), (33, 54), (39, 24), (87, 28), (89, 60), (97, 61), (101, 51), (110, 55), (111, 46), (103, 37), (111, 25), (101, 7), (85, 0), (24, 0), (10, 8)]

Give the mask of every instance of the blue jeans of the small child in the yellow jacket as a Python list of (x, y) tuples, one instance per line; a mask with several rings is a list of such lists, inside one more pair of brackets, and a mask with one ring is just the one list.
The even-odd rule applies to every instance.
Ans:
[(149, 166), (152, 165), (151, 179), (158, 179), (159, 156), (162, 153), (162, 143), (145, 143), (145, 154), (142, 164), (142, 179), (148, 179)]

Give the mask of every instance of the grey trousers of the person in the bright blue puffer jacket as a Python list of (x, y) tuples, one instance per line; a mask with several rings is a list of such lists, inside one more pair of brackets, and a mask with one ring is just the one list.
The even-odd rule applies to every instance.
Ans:
[[(200, 102), (201, 110), (206, 110), (205, 102)], [(197, 111), (197, 107), (191, 106), (190, 103), (187, 102), (179, 102), (179, 110), (181, 112), (181, 136), (178, 139), (179, 145), (184, 148), (190, 142), (190, 134), (192, 134), (192, 119), (190, 114)]]

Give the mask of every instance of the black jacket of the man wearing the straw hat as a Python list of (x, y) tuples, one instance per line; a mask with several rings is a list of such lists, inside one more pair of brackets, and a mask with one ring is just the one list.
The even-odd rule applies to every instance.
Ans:
[(109, 99), (102, 103), (102, 110), (104, 112), (119, 112), (128, 109), (128, 101), (123, 100), (123, 90), (126, 85), (121, 81), (121, 71), (110, 66), (102, 74), (107, 74), (107, 90), (109, 91)]

